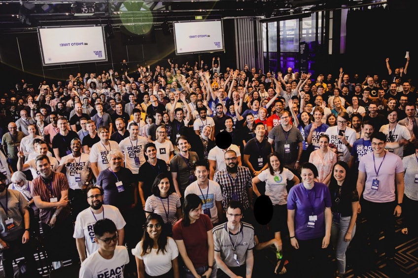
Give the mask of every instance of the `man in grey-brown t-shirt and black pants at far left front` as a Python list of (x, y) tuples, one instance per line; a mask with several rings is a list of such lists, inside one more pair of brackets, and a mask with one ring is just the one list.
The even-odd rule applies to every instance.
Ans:
[(29, 243), (31, 223), (28, 202), (19, 191), (7, 189), (5, 182), (6, 177), (0, 173), (0, 253), (4, 277), (13, 277), (13, 260), (17, 250), (23, 253), (31, 277), (40, 277), (38, 273), (35, 276), (34, 250)]

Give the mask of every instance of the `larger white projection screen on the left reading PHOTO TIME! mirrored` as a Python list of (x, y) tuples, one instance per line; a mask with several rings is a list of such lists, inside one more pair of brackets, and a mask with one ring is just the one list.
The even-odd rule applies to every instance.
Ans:
[(102, 26), (38, 28), (43, 65), (107, 61)]

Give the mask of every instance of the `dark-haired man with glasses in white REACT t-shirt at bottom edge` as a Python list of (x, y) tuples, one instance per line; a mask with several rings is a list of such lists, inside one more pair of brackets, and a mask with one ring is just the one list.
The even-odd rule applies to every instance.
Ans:
[(94, 242), (99, 249), (85, 259), (80, 268), (79, 278), (123, 277), (125, 265), (129, 263), (128, 249), (116, 246), (118, 234), (112, 220), (104, 218), (93, 227)]

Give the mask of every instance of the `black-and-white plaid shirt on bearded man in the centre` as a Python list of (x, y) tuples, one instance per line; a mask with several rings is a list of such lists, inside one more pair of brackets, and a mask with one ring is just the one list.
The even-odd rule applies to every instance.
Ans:
[(249, 208), (248, 194), (246, 189), (252, 187), (252, 177), (249, 169), (244, 166), (238, 166), (238, 173), (235, 179), (228, 173), (225, 168), (215, 173), (213, 181), (218, 183), (222, 189), (222, 207), (226, 211), (229, 201), (232, 200), (233, 194), (237, 194), (244, 210)]

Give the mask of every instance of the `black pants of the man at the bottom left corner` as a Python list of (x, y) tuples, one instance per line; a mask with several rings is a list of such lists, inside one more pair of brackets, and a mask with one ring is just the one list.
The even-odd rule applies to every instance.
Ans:
[(3, 273), (5, 278), (13, 278), (13, 260), (19, 258), (18, 254), (22, 254), (25, 257), (28, 270), (37, 271), (34, 251), (31, 247), (31, 239), (25, 244), (22, 243), (22, 236), (14, 241), (5, 242), (9, 245), (8, 249), (1, 250), (1, 261), (3, 263)]

